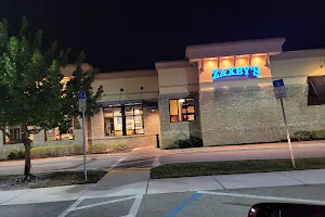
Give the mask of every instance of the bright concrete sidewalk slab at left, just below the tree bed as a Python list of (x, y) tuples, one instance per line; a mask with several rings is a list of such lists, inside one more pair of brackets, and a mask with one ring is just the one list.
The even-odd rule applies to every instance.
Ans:
[(46, 203), (57, 201), (72, 201), (81, 196), (93, 184), (79, 184), (67, 187), (53, 187), (43, 189), (32, 189), (2, 205)]

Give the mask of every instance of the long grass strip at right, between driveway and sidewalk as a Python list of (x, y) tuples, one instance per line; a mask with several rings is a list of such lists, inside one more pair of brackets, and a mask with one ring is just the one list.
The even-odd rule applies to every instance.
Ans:
[[(323, 169), (325, 157), (296, 158), (296, 169)], [(288, 171), (292, 168), (291, 159), (246, 159), (231, 162), (193, 162), (176, 163), (152, 169), (152, 179), (196, 177), (210, 175), (250, 174), (268, 171)]]

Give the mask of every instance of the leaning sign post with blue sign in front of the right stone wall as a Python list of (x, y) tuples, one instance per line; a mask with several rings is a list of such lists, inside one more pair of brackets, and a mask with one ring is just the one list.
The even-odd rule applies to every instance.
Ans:
[(295, 157), (294, 157), (294, 152), (292, 152), (292, 146), (291, 146), (291, 140), (290, 140), (290, 133), (289, 133), (289, 128), (288, 128), (286, 113), (285, 113), (284, 105), (283, 105), (283, 98), (286, 98), (286, 88), (284, 86), (283, 79), (273, 80), (273, 87), (274, 87), (275, 98), (280, 99), (280, 102), (281, 102), (282, 114), (283, 114), (283, 118), (284, 118), (284, 123), (285, 123), (285, 127), (286, 127), (287, 140), (288, 140), (290, 155), (291, 155), (291, 162), (292, 162), (294, 168), (296, 168)]

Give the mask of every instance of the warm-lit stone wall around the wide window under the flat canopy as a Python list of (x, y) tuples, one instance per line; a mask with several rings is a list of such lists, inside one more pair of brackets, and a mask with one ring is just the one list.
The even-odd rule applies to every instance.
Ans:
[(143, 110), (144, 135), (105, 137), (104, 135), (104, 115), (103, 111), (91, 118), (88, 123), (91, 128), (88, 142), (89, 145), (95, 143), (105, 143), (112, 145), (126, 144), (129, 149), (156, 146), (156, 135), (160, 132), (159, 113), (157, 111)]

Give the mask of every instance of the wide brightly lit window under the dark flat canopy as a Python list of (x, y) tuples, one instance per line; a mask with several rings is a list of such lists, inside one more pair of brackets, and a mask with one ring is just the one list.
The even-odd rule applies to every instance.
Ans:
[(105, 136), (143, 135), (142, 104), (112, 105), (104, 108)]

